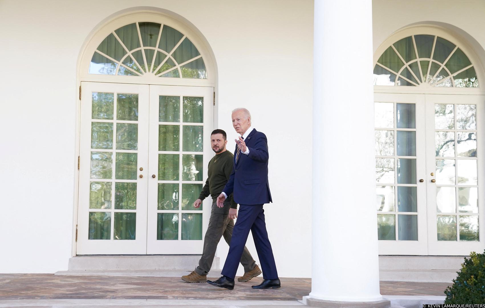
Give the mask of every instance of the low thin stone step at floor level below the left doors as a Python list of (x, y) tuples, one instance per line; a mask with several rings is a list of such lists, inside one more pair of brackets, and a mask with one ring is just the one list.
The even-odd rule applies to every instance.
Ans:
[[(58, 271), (54, 275), (63, 276), (139, 276), (139, 277), (181, 277), (194, 269), (185, 270), (68, 270)], [(220, 277), (220, 269), (211, 269), (208, 277)]]

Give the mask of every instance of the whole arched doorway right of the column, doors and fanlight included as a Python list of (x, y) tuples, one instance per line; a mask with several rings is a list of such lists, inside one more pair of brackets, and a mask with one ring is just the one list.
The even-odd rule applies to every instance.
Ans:
[(482, 250), (480, 61), (459, 36), (419, 26), (389, 37), (374, 65), (379, 254)]

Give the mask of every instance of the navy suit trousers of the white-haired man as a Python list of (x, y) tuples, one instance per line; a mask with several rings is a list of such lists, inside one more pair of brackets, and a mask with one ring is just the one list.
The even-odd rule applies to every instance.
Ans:
[(244, 251), (249, 230), (253, 234), (254, 244), (258, 252), (259, 262), (261, 262), (261, 269), (263, 271), (264, 279), (276, 279), (278, 273), (276, 271), (275, 257), (273, 256), (273, 249), (268, 239), (268, 232), (266, 231), (266, 223), (264, 221), (263, 205), (239, 205), (238, 220), (232, 231), (232, 240), (229, 245), (229, 252), (227, 254), (226, 263), (222, 269), (222, 275), (229, 278), (236, 276), (238, 269), (238, 262)]

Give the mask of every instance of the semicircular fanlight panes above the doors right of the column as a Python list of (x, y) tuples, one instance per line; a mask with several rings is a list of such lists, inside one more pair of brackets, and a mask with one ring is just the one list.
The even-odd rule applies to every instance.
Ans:
[(467, 55), (436, 35), (411, 35), (392, 44), (377, 60), (374, 85), (478, 88), (475, 68)]

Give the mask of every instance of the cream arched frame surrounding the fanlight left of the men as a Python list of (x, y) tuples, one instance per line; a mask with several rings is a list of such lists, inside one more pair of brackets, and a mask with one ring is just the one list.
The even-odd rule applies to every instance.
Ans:
[[(203, 58), (206, 66), (207, 79), (192, 79), (192, 78), (170, 78), (157, 77), (153, 73), (146, 73), (142, 76), (119, 76), (119, 75), (98, 75), (89, 74), (89, 65), (96, 52), (99, 44), (113, 31), (123, 26), (136, 22), (153, 22), (174, 28), (184, 34), (194, 44)], [(164, 84), (164, 85), (195, 85), (195, 86), (215, 86), (216, 83), (216, 69), (215, 61), (208, 42), (203, 38), (201, 33), (190, 26), (190, 22), (181, 20), (177, 16), (171, 16), (163, 13), (154, 12), (132, 12), (121, 16), (117, 16), (97, 27), (91, 38), (84, 44), (80, 61), (78, 63), (79, 81), (99, 81), (99, 82), (119, 82), (119, 83), (138, 83), (138, 84)], [(139, 50), (133, 49), (130, 52)], [(155, 49), (145, 47), (145, 49)], [(158, 49), (164, 54), (166, 51)], [(127, 53), (125, 55), (129, 56)], [(180, 65), (180, 64), (179, 64)], [(120, 65), (116, 68), (119, 70)], [(177, 68), (179, 69), (179, 68)], [(179, 71), (180, 73), (180, 71)]]

